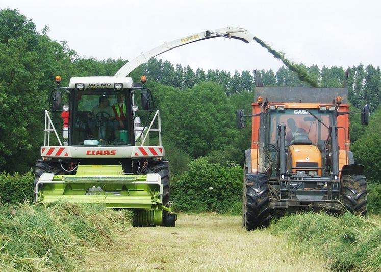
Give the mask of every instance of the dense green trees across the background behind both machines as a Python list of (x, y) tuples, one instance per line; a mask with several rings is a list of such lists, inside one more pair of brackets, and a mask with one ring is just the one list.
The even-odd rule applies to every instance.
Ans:
[[(48, 27), (36, 30), (32, 20), (17, 10), (0, 10), (0, 170), (27, 172), (34, 167), (43, 144), (43, 111), (48, 94), (61, 75), (62, 86), (70, 77), (113, 76), (126, 60), (96, 60), (78, 56), (66, 42), (52, 40)], [(381, 73), (379, 67), (306, 67), (320, 87), (342, 87), (345, 72), (350, 104), (371, 106), (371, 126), (361, 127), (359, 116), (351, 116), (353, 150), (361, 163), (374, 153), (380, 157)], [(273, 70), (234, 72), (192, 70), (189, 66), (151, 59), (130, 75), (135, 81), (145, 74), (161, 110), (166, 154), (175, 172), (184, 171), (194, 158), (205, 157), (223, 166), (243, 163), (250, 146), (250, 126), (235, 128), (235, 110), (251, 111), (256, 85), (308, 86), (294, 72)], [(377, 127), (378, 126), (378, 127)], [(370, 136), (372, 135), (372, 137)], [(369, 138), (371, 137), (371, 138)], [(369, 146), (371, 145), (371, 146)], [(381, 161), (379, 158), (378, 161)], [(380, 168), (380, 167), (379, 167)], [(378, 168), (378, 169), (379, 169)], [(379, 170), (372, 172), (377, 177)]]

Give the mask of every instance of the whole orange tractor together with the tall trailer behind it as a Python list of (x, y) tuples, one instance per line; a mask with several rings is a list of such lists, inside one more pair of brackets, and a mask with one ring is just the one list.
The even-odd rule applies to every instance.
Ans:
[[(243, 227), (267, 226), (285, 212), (367, 212), (364, 166), (349, 149), (346, 88), (257, 87), (245, 152)], [(357, 113), (357, 112), (356, 112)], [(369, 109), (362, 108), (367, 125)]]

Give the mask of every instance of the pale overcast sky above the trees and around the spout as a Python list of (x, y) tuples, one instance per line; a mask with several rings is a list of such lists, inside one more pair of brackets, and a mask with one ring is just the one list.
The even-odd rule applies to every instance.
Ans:
[[(378, 1), (39, 1), (1, 0), (37, 30), (66, 40), (78, 55), (133, 59), (164, 42), (208, 29), (245, 28), (294, 62), (306, 65), (381, 65)], [(158, 58), (196, 68), (252, 71), (282, 66), (255, 41), (215, 38)]]

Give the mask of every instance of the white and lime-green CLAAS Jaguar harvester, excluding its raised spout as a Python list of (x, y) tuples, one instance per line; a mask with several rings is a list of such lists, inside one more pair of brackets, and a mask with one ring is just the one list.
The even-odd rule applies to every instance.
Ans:
[(102, 203), (131, 209), (138, 226), (175, 225), (160, 113), (145, 81), (76, 77), (52, 90), (36, 202)]

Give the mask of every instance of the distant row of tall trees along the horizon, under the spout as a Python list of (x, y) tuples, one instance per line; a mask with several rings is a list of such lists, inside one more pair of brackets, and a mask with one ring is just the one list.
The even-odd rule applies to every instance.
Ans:
[[(317, 65), (306, 67), (319, 83), (319, 87), (343, 87), (344, 77), (348, 72), (347, 87), (349, 101), (357, 107), (365, 104), (370, 105), (371, 110), (375, 110), (381, 100), (381, 71), (379, 67), (363, 64), (352, 67), (325, 67), (321, 69)], [(208, 70), (183, 67), (180, 64), (173, 65), (169, 61), (161, 59), (150, 59), (143, 64), (142, 72), (150, 80), (160, 82), (164, 85), (173, 86), (180, 89), (192, 88), (200, 82), (213, 81), (223, 87), (226, 95), (241, 93), (243, 91), (253, 92), (255, 86), (304, 86), (311, 87), (308, 83), (300, 81), (295, 72), (285, 66), (276, 72), (272, 69), (235, 71), (232, 75), (227, 71)]]

